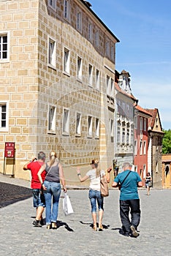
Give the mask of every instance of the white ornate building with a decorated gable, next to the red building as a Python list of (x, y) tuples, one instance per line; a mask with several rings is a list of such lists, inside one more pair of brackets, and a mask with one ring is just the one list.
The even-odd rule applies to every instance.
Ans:
[(134, 163), (134, 106), (129, 72), (115, 72), (115, 158), (117, 174), (123, 162)]

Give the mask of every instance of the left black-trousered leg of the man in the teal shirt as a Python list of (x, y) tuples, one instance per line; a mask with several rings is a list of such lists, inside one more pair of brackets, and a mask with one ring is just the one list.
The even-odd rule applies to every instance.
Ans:
[(120, 200), (120, 217), (123, 233), (129, 236), (131, 222), (129, 220), (129, 200)]

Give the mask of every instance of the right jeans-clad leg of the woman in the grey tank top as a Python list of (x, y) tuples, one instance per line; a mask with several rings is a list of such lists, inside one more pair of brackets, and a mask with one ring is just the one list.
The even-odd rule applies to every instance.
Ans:
[(61, 195), (61, 184), (52, 182), (51, 189), (53, 194), (53, 208), (52, 208), (52, 219), (51, 222), (56, 223), (58, 218), (58, 202)]

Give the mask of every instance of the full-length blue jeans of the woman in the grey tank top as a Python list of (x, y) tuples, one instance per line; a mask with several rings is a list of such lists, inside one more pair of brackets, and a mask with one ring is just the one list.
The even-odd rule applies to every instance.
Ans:
[[(57, 182), (44, 181), (46, 190), (44, 190), (46, 202), (46, 224), (56, 222), (58, 217), (58, 201), (61, 195), (61, 184)], [(52, 206), (53, 201), (53, 206)]]

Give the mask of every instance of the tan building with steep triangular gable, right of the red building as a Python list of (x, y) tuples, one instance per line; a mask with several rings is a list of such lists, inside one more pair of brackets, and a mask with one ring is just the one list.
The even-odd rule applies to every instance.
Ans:
[(145, 109), (151, 114), (148, 118), (148, 171), (153, 178), (153, 187), (162, 187), (162, 132), (159, 110)]

